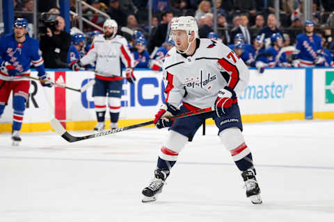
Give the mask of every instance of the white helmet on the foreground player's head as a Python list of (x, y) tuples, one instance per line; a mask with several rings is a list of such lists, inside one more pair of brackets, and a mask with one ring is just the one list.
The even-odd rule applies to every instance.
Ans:
[[(192, 16), (181, 16), (181, 17), (174, 17), (170, 22), (170, 38), (173, 38), (173, 31), (176, 30), (184, 30), (186, 31), (186, 35), (188, 37), (188, 48), (185, 51), (179, 51), (177, 48), (176, 50), (180, 53), (186, 53), (188, 51), (190, 44), (198, 38), (198, 26), (196, 19)], [(195, 33), (194, 39), (190, 42), (191, 33)]]

